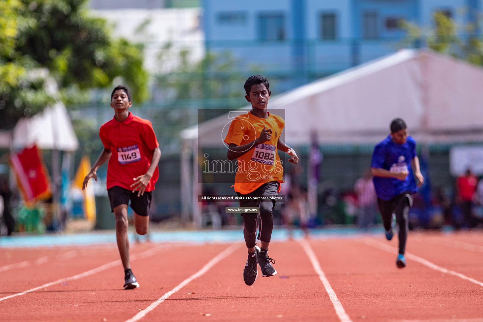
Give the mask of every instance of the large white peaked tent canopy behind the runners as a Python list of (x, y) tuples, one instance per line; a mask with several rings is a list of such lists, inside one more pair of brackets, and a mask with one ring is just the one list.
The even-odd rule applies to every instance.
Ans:
[[(285, 109), (285, 140), (308, 144), (382, 140), (389, 123), (403, 118), (426, 142), (483, 140), (483, 69), (428, 50), (390, 56), (271, 98)], [(247, 106), (246, 108), (251, 108)], [(222, 146), (228, 115), (185, 129), (185, 140)]]

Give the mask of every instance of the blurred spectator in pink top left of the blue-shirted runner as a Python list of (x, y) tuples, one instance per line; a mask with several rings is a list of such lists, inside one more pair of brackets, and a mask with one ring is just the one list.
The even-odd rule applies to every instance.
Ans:
[(354, 191), (357, 194), (359, 206), (357, 226), (359, 228), (368, 228), (374, 224), (377, 200), (370, 169), (364, 172), (364, 177), (357, 179)]

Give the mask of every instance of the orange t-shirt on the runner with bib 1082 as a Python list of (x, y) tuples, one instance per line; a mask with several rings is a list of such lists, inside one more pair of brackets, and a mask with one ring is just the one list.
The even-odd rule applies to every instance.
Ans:
[[(238, 158), (235, 176), (235, 191), (243, 195), (255, 191), (264, 183), (284, 182), (284, 168), (277, 153), (277, 142), (284, 129), (285, 121), (278, 115), (268, 113), (268, 118), (259, 118), (248, 112), (237, 116), (230, 124), (225, 143), (238, 146), (256, 140), (263, 127), (271, 129), (271, 139), (254, 145)], [(280, 190), (280, 188), (279, 188)]]

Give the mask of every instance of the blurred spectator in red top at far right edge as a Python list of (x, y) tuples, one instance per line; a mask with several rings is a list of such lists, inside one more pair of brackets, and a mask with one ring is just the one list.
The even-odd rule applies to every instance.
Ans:
[(466, 173), (460, 176), (456, 181), (457, 201), (469, 228), (474, 228), (477, 224), (477, 220), (471, 211), (473, 200), (476, 197), (475, 192), (477, 183), (478, 180), (470, 169), (466, 170)]

